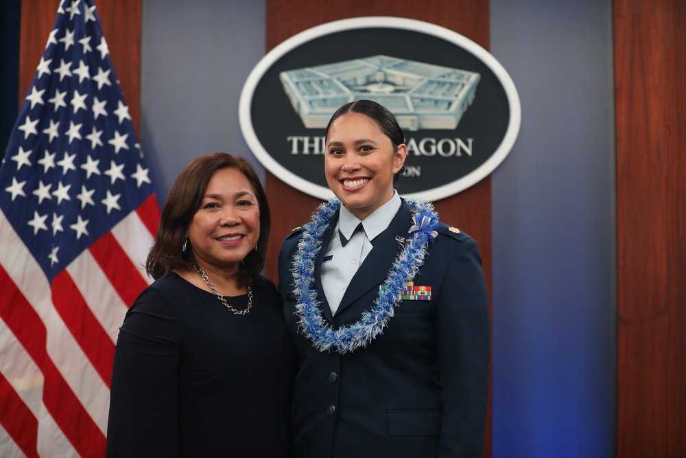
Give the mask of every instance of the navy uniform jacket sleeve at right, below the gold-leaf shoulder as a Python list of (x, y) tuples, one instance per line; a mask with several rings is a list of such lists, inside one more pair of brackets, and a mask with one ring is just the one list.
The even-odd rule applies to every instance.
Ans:
[(488, 297), (472, 238), (454, 253), (440, 293), (436, 328), (442, 378), (440, 458), (481, 458), (490, 358)]

